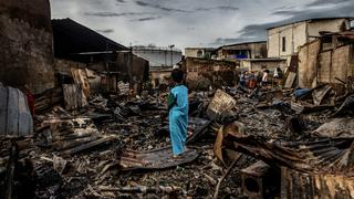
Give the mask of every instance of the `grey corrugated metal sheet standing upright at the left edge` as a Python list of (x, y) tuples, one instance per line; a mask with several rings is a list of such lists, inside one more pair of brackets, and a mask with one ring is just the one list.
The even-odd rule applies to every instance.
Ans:
[(22, 137), (33, 133), (33, 119), (27, 96), (0, 83), (0, 136)]

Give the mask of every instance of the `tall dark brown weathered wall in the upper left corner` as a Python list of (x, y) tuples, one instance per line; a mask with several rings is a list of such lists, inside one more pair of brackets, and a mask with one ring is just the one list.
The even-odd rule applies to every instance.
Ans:
[(48, 0), (0, 0), (0, 82), (34, 93), (54, 87)]

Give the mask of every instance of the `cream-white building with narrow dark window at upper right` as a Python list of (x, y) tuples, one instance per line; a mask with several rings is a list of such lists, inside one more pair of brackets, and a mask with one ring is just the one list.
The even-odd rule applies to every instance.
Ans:
[(299, 48), (320, 36), (321, 32), (341, 32), (351, 29), (351, 18), (309, 19), (268, 29), (268, 57), (288, 59)]

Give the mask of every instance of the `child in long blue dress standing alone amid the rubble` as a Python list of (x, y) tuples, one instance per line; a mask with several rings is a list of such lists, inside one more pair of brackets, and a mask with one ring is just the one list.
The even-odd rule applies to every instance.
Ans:
[(183, 85), (184, 72), (175, 69), (171, 72), (174, 88), (167, 98), (169, 135), (173, 144), (174, 158), (178, 158), (186, 150), (188, 126), (188, 88)]

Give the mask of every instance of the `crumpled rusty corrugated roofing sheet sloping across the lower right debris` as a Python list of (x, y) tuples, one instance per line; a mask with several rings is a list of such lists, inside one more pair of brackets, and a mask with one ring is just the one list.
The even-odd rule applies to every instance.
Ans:
[(271, 142), (254, 136), (232, 137), (237, 150), (269, 165), (300, 171), (354, 176), (354, 138), (319, 138), (308, 142)]

